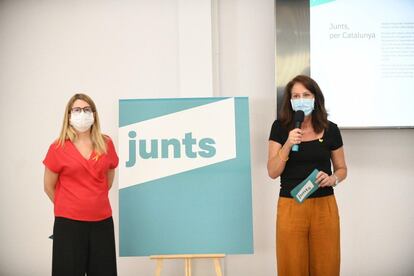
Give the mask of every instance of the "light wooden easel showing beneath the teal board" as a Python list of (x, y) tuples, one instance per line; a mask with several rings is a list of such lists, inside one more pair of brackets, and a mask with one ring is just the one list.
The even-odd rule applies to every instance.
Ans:
[(223, 276), (221, 271), (220, 259), (224, 258), (224, 254), (190, 254), (190, 255), (152, 255), (151, 260), (157, 261), (155, 276), (161, 276), (162, 261), (166, 259), (184, 259), (185, 276), (191, 276), (191, 260), (192, 259), (213, 259), (216, 276)]

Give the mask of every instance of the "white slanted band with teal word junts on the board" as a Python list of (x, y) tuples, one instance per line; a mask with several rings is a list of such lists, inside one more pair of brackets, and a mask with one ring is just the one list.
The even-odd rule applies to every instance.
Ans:
[(161, 116), (150, 107), (137, 104), (148, 115), (119, 128), (120, 189), (236, 158), (234, 98)]

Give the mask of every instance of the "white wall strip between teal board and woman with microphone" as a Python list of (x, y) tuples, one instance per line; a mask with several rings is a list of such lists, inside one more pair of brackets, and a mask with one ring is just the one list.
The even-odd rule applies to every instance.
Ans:
[(220, 1), (220, 91), (249, 96), (253, 181), (253, 256), (226, 258), (226, 275), (275, 272), (275, 204), (278, 184), (267, 176), (267, 139), (275, 118), (275, 20), (272, 0)]

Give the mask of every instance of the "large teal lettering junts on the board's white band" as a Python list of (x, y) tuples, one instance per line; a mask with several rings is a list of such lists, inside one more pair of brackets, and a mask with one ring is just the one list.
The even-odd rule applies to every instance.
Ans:
[[(181, 158), (185, 155), (188, 158), (211, 158), (216, 154), (213, 138), (202, 138), (197, 140), (192, 132), (187, 132), (181, 139), (138, 139), (137, 132), (131, 130), (128, 133), (129, 159), (126, 167), (132, 167), (136, 163), (136, 155), (142, 159), (150, 158)], [(137, 148), (138, 146), (138, 148)]]

